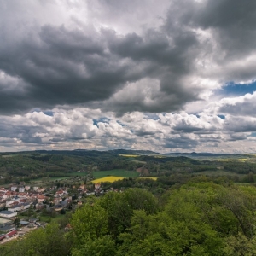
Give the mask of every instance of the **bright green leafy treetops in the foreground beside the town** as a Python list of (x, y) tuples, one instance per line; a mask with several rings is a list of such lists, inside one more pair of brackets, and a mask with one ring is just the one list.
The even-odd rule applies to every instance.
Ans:
[(49, 224), (0, 255), (256, 255), (256, 188), (196, 177), (157, 201), (144, 189), (109, 192), (73, 213), (71, 229)]

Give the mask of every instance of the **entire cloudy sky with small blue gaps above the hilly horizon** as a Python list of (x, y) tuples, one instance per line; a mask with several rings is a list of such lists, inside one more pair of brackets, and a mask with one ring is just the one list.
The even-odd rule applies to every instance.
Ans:
[(0, 0), (0, 151), (256, 152), (255, 0)]

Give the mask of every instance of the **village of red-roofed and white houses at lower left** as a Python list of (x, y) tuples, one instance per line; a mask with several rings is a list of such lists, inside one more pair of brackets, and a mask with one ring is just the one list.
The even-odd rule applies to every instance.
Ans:
[(11, 185), (0, 188), (0, 244), (24, 236), (30, 230), (44, 228), (53, 218), (74, 212), (86, 198), (103, 194), (100, 183), (71, 187)]

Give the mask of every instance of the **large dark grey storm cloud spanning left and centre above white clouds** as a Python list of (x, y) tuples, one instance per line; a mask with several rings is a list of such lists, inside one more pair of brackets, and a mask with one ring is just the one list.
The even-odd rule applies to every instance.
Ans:
[[(24, 84), (24, 88), (22, 92), (3, 91), (2, 113), (87, 102), (98, 104), (127, 82), (145, 77), (160, 80), (160, 91), (167, 95), (166, 100), (156, 97), (149, 105), (137, 101), (132, 105), (124, 103), (122, 108), (113, 102), (110, 108), (119, 108), (123, 113), (160, 112), (178, 110), (197, 99), (197, 93), (186, 90), (181, 81), (181, 76), (190, 69), (189, 49), (198, 44), (191, 32), (176, 31), (168, 38), (162, 29), (148, 29), (143, 36), (131, 33), (119, 37), (103, 29), (87, 33), (86, 29), (47, 25), (29, 27), (24, 35), (15, 38), (7, 30), (5, 25), (0, 69), (15, 78), (16, 84)], [(139, 72), (137, 67), (141, 67)]]

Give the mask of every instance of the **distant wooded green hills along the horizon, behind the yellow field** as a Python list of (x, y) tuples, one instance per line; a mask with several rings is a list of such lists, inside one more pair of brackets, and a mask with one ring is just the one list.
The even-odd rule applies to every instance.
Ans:
[[(69, 177), (83, 172), (138, 171), (140, 176), (170, 177), (176, 174), (230, 176), (234, 182), (256, 180), (254, 154), (159, 154), (138, 150), (30, 151), (0, 154), (0, 184)], [(229, 178), (230, 178), (229, 177)]]

